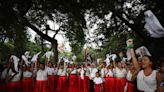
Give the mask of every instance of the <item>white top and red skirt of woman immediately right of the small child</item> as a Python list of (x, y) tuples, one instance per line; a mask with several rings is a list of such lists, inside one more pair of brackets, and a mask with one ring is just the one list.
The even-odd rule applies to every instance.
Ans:
[(114, 92), (115, 82), (114, 82), (113, 72), (111, 69), (105, 70), (104, 78), (104, 91), (105, 92)]

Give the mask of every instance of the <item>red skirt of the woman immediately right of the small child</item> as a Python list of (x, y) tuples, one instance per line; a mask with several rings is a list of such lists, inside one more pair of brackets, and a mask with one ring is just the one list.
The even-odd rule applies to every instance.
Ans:
[(104, 82), (104, 92), (114, 92), (115, 79), (113, 77), (106, 77)]

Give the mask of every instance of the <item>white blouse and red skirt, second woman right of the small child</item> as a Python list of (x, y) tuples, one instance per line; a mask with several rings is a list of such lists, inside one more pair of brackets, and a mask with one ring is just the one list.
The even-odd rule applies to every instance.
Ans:
[(126, 70), (115, 68), (115, 92), (124, 92), (126, 86)]

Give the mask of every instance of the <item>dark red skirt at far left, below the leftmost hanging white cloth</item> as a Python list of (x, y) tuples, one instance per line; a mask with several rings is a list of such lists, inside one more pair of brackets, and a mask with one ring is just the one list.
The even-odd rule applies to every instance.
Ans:
[(21, 81), (10, 82), (8, 87), (9, 87), (8, 92), (22, 92)]

